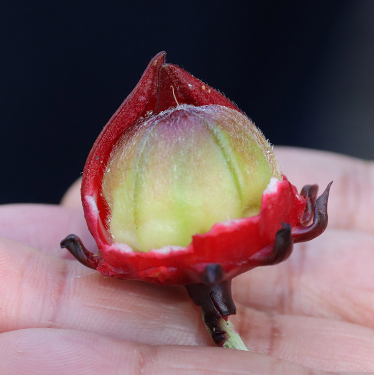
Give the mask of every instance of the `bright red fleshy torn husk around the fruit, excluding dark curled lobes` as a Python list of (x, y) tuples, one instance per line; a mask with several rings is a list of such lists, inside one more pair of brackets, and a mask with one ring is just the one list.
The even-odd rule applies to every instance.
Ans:
[[(101, 196), (101, 181), (111, 151), (123, 133), (151, 111), (157, 114), (178, 104), (195, 106), (219, 104), (239, 111), (222, 93), (183, 69), (165, 63), (160, 52), (149, 63), (139, 83), (106, 124), (93, 145), (83, 171), (81, 197), (89, 231), (103, 260), (98, 270), (104, 275), (140, 279), (154, 284), (199, 283), (205, 266), (221, 264), (225, 279), (254, 268), (258, 254), (268, 256), (282, 223), (300, 225), (304, 197), (287, 180), (273, 179), (263, 194), (257, 216), (215, 224), (195, 235), (189, 246), (133, 251), (126, 244), (113, 243), (104, 223), (108, 209)], [(261, 253), (259, 253), (261, 252)], [(254, 257), (257, 255), (257, 257)]]

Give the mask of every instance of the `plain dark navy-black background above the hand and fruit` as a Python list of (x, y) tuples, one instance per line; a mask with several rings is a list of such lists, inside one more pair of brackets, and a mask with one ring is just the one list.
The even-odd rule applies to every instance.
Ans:
[(2, 1), (0, 203), (57, 203), (166, 50), (274, 144), (374, 158), (374, 2)]

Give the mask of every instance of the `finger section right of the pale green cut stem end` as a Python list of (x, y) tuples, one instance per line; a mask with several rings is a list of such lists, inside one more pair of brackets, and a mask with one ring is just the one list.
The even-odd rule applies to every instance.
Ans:
[(325, 371), (374, 371), (374, 331), (367, 327), (240, 305), (232, 321), (250, 351)]

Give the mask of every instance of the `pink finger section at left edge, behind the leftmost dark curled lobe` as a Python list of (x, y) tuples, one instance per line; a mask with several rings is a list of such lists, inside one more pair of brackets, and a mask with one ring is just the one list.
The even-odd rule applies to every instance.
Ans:
[(46, 204), (9, 204), (0, 206), (0, 237), (21, 242), (59, 257), (70, 257), (60, 241), (68, 234), (80, 236), (96, 253), (83, 212)]

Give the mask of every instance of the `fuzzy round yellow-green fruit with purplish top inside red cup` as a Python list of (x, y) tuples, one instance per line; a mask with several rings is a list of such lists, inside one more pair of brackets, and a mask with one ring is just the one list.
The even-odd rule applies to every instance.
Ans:
[(115, 242), (147, 252), (186, 246), (213, 224), (260, 212), (272, 148), (240, 112), (180, 105), (133, 124), (117, 142), (102, 193)]

